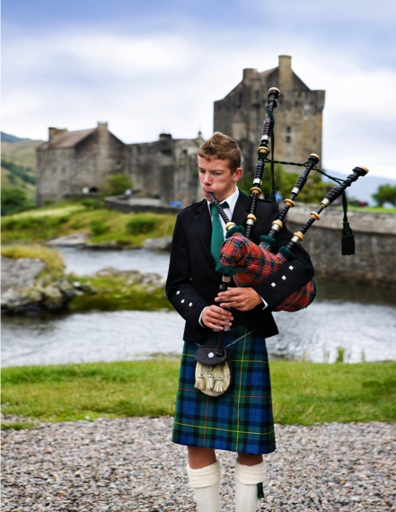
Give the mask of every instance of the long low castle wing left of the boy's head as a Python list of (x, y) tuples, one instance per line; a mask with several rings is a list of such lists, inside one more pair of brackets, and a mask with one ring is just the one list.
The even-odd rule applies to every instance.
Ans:
[(97, 128), (67, 131), (48, 128), (48, 142), (37, 148), (37, 204), (99, 192), (112, 174), (127, 173), (134, 190), (164, 205), (188, 206), (199, 196), (197, 150), (201, 133), (193, 139), (159, 140), (126, 145), (110, 133), (107, 123)]

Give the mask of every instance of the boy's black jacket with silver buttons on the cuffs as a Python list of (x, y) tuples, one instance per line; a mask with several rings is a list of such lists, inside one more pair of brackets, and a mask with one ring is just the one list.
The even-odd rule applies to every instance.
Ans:
[[(250, 204), (251, 200), (240, 190), (233, 210), (232, 220), (236, 225), (245, 223)], [(260, 243), (260, 235), (268, 234), (272, 221), (277, 219), (279, 212), (270, 201), (259, 200), (256, 216), (257, 222), (252, 231), (252, 239), (253, 242)], [(215, 297), (221, 281), (220, 274), (215, 270), (215, 260), (210, 254), (211, 235), (212, 222), (206, 199), (180, 212), (173, 232), (166, 295), (175, 310), (186, 321), (184, 340), (190, 342), (199, 342), (210, 332), (209, 329), (201, 327), (198, 320), (207, 305), (216, 304)], [(274, 252), (277, 253), (277, 249), (282, 245), (287, 245), (291, 237), (292, 234), (284, 226), (277, 235)], [(282, 276), (285, 276), (283, 267), (253, 287), (269, 307), (263, 310), (262, 305), (257, 305), (248, 312), (231, 309), (233, 317), (239, 323), (246, 325), (250, 331), (263, 338), (278, 333), (271, 311), (287, 296), (304, 287), (313, 277), (311, 259), (301, 246), (295, 249), (293, 269), (287, 270), (286, 280), (282, 279)], [(271, 286), (273, 283), (276, 283), (276, 287)]]

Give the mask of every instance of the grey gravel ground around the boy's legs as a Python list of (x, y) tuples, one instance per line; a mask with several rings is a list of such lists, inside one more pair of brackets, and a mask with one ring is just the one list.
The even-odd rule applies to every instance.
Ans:
[[(3, 511), (195, 511), (171, 418), (97, 419), (3, 432)], [(260, 510), (396, 510), (396, 426), (277, 425)], [(220, 453), (223, 511), (235, 455)]]

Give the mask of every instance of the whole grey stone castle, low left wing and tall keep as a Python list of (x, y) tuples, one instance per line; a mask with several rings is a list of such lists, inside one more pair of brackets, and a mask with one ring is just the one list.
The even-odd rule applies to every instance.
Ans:
[[(242, 82), (223, 100), (215, 102), (214, 129), (233, 137), (242, 150), (244, 172), (252, 175), (260, 144), (268, 88), (280, 89), (275, 111), (277, 160), (305, 162), (311, 153), (321, 155), (324, 91), (311, 91), (295, 75), (289, 56), (279, 56), (277, 67), (258, 72), (244, 69)], [(135, 190), (160, 198), (165, 205), (183, 206), (200, 199), (197, 172), (197, 138), (124, 144), (110, 133), (107, 123), (97, 128), (67, 131), (49, 128), (48, 142), (37, 148), (37, 203), (97, 192), (110, 175), (127, 173)]]

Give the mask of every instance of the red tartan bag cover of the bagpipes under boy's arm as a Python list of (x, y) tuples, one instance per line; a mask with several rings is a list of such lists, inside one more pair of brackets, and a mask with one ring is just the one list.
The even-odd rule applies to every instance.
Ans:
[[(242, 234), (233, 234), (222, 246), (220, 264), (238, 269), (233, 276), (238, 287), (251, 287), (272, 276), (287, 261), (283, 254), (273, 254), (268, 251), (269, 248), (267, 243), (256, 245)], [(295, 312), (304, 309), (312, 303), (316, 293), (316, 281), (311, 279), (304, 287), (286, 297), (274, 311)]]

